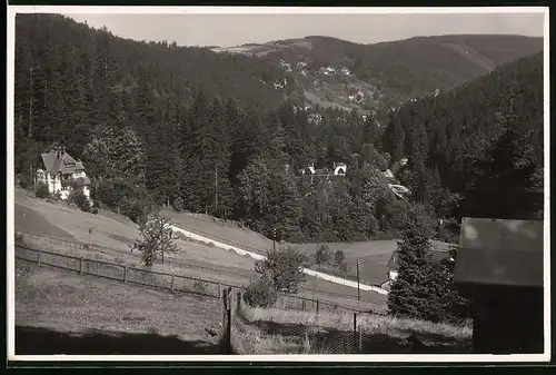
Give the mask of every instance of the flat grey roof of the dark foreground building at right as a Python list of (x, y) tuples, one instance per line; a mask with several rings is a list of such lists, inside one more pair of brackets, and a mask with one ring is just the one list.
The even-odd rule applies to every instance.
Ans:
[(539, 220), (464, 218), (454, 280), (542, 287), (543, 235)]

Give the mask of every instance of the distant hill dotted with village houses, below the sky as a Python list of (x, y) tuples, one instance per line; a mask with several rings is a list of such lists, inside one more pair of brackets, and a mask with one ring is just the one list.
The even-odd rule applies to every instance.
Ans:
[(306, 37), (214, 49), (281, 67), (296, 77), (314, 103), (369, 110), (454, 88), (542, 50), (542, 38), (490, 34), (417, 37), (376, 45)]

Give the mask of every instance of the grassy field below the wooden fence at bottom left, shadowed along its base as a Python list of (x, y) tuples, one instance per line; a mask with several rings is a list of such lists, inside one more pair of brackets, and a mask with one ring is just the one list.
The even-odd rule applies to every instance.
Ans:
[(221, 317), (218, 299), (16, 261), (16, 354), (217, 353)]

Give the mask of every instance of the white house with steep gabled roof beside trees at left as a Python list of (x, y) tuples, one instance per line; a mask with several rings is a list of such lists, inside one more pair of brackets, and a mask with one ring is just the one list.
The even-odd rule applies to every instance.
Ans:
[(38, 182), (46, 184), (50, 194), (59, 193), (62, 199), (68, 198), (72, 182), (78, 182), (83, 195), (91, 200), (91, 180), (85, 172), (83, 164), (69, 156), (63, 148), (41, 154), (40, 165), (34, 172), (34, 184)]

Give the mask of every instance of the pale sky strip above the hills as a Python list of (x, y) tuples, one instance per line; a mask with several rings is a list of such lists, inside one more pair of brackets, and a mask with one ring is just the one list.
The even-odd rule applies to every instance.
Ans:
[(484, 13), (68, 13), (93, 28), (135, 40), (179, 46), (231, 47), (307, 36), (376, 43), (439, 34), (495, 33), (543, 37), (544, 14)]

